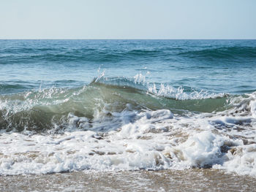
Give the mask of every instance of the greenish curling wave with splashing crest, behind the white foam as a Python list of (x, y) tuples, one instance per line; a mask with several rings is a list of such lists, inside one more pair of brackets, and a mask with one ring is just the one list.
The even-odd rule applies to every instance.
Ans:
[[(217, 112), (227, 110), (230, 96), (207, 91), (185, 92), (184, 88), (155, 85), (143, 76), (95, 78), (78, 88), (48, 88), (0, 96), (0, 128), (7, 131), (62, 130), (69, 127), (72, 115), (86, 118), (78, 128), (93, 127), (94, 121), (113, 120), (116, 112), (171, 110)], [(117, 124), (120, 126), (120, 124)]]

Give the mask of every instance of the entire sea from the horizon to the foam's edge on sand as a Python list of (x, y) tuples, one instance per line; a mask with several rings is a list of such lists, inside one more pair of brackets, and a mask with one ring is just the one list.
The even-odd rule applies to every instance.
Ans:
[(0, 175), (256, 177), (255, 40), (0, 40)]

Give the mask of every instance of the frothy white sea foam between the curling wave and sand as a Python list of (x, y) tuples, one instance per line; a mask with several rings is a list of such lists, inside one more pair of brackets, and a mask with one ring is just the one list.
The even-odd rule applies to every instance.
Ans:
[[(87, 118), (69, 114), (72, 131), (64, 134), (2, 132), (0, 174), (212, 166), (256, 177), (254, 102), (251, 98), (246, 117), (124, 110), (113, 112), (107, 123), (95, 116), (91, 128)], [(78, 123), (84, 131), (72, 128)]]

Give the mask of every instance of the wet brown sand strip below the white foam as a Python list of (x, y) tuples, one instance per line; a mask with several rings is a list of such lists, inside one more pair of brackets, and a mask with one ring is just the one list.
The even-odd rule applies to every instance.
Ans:
[(214, 169), (67, 172), (0, 177), (1, 191), (256, 191), (256, 178)]

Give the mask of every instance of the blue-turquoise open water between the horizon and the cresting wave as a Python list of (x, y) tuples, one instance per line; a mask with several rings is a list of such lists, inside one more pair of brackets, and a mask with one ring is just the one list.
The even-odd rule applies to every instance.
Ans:
[[(88, 84), (105, 77), (214, 93), (256, 91), (255, 40), (1, 40), (0, 93)], [(99, 71), (99, 72), (98, 72)]]

